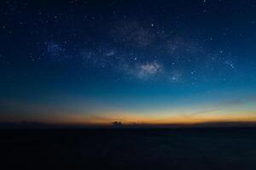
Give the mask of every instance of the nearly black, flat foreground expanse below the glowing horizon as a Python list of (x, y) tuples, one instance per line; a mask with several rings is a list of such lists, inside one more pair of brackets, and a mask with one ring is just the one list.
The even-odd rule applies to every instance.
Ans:
[(4, 167), (0, 169), (256, 169), (256, 128), (1, 130), (0, 134)]

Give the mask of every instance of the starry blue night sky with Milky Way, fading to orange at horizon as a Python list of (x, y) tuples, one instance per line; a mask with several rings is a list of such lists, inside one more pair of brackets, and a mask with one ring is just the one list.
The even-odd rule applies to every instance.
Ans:
[(0, 2), (0, 120), (256, 121), (256, 2)]

